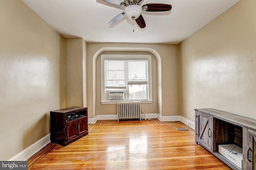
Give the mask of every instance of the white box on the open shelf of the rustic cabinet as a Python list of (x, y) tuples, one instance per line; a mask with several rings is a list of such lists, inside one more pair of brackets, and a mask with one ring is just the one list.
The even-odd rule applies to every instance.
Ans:
[(243, 150), (242, 148), (234, 145), (218, 145), (219, 153), (228, 158), (231, 162), (236, 164), (239, 168), (243, 168)]

